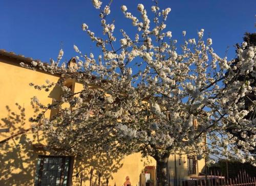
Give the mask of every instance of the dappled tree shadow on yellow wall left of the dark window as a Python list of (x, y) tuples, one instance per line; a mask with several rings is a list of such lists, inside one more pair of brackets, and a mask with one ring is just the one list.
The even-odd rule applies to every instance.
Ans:
[[(2, 118), (0, 128), (10, 128), (7, 134), (2, 133), (1, 139), (6, 139), (20, 132), (18, 136), (0, 143), (0, 185), (32, 185), (35, 172), (37, 152), (33, 149), (33, 141), (39, 141), (39, 134), (32, 131), (24, 132), (26, 124), (25, 108), (16, 103), (19, 113), (11, 111), (6, 106), (8, 116)], [(35, 114), (38, 108), (34, 107)]]

